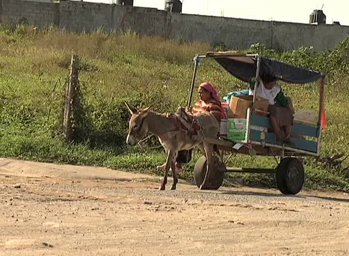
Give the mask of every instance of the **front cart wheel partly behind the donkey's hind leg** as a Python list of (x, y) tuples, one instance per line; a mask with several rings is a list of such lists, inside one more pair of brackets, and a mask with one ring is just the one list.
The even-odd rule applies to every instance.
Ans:
[[(212, 156), (213, 170), (211, 175), (208, 177), (209, 187), (208, 189), (217, 190), (222, 186), (224, 174), (226, 171), (225, 164), (219, 160), (217, 156)], [(206, 174), (206, 157), (201, 156), (195, 163), (194, 166), (194, 180), (196, 186), (200, 188), (204, 181)]]

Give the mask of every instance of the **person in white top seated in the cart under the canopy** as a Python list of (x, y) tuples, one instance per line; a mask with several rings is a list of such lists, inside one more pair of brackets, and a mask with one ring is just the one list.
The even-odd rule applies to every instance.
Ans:
[[(276, 78), (263, 74), (257, 81), (259, 85), (256, 88), (256, 96), (269, 101), (270, 123), (277, 139), (290, 143), (294, 113), (290, 100), (285, 97), (280, 85), (276, 83)], [(249, 80), (249, 89), (254, 90), (254, 79)]]

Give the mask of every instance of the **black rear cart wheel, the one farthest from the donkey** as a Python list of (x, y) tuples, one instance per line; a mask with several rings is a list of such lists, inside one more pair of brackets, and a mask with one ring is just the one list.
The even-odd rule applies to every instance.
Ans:
[(304, 184), (304, 168), (297, 158), (281, 160), (276, 172), (276, 184), (283, 194), (297, 194)]

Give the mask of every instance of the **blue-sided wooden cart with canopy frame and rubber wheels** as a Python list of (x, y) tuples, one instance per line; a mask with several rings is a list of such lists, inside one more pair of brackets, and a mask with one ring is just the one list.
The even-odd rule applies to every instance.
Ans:
[[(248, 81), (251, 77), (259, 77), (264, 73), (278, 78), (287, 83), (309, 83), (319, 81), (319, 111), (316, 122), (304, 120), (294, 120), (292, 133), (296, 134), (292, 146), (285, 145), (276, 139), (273, 132), (269, 132), (271, 124), (268, 112), (263, 116), (258, 112), (263, 112), (255, 108), (256, 97), (253, 100), (253, 107), (249, 108), (246, 117), (246, 133), (244, 140), (227, 140), (223, 138), (208, 139), (211, 144), (216, 144), (220, 154), (213, 156), (213, 163), (210, 168), (209, 178), (210, 189), (218, 189), (226, 172), (244, 173), (268, 173), (275, 174), (276, 184), (280, 192), (284, 194), (297, 194), (304, 184), (304, 168), (300, 157), (317, 157), (320, 150), (321, 138), (321, 114), (324, 109), (324, 86), (325, 74), (306, 70), (285, 64), (279, 61), (264, 58), (258, 54), (242, 54), (238, 52), (207, 52), (205, 55), (194, 57), (194, 72), (191, 80), (188, 107), (190, 107), (195, 77), (198, 64), (202, 59), (213, 58), (226, 71), (235, 78)], [(254, 90), (257, 88), (257, 82)], [(254, 93), (255, 95), (255, 93)], [(244, 145), (240, 148), (236, 145)], [(230, 153), (223, 161), (223, 156)], [(277, 161), (275, 168), (233, 168), (226, 167), (225, 163), (234, 154), (249, 154), (258, 156), (274, 156)], [(280, 157), (280, 160), (277, 160)], [(206, 157), (200, 157), (194, 166), (194, 180), (198, 187), (202, 184), (206, 173)]]

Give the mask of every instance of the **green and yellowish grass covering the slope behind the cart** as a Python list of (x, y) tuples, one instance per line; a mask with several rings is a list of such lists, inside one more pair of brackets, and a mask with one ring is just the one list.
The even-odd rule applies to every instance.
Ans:
[[(165, 161), (165, 155), (159, 149), (125, 145), (129, 113), (123, 101), (138, 107), (153, 104), (159, 112), (174, 112), (178, 106), (186, 105), (192, 58), (197, 53), (213, 50), (205, 43), (132, 33), (117, 35), (99, 30), (75, 34), (54, 28), (38, 31), (4, 25), (0, 27), (0, 45), (1, 157), (107, 166), (152, 174), (162, 174), (156, 166)], [(346, 46), (345, 41), (332, 52), (317, 54), (308, 48), (286, 53), (260, 45), (250, 49), (328, 74), (327, 128), (322, 135), (321, 156), (349, 151), (349, 113), (346, 111), (349, 109), (346, 82), (349, 65), (346, 67), (344, 58), (349, 50)], [(61, 126), (72, 53), (78, 54), (81, 60), (79, 79), (83, 98), (76, 123), (76, 141), (68, 144), (63, 140)], [(213, 82), (221, 96), (247, 86), (212, 60), (201, 63), (196, 81)], [(317, 110), (315, 84), (284, 84), (283, 90), (292, 97), (297, 111)], [(152, 139), (148, 145), (159, 144)], [(182, 177), (192, 177), (197, 157), (195, 154)], [(274, 167), (275, 160), (236, 155), (229, 165)], [(348, 165), (345, 160), (340, 168), (332, 168), (306, 159), (305, 188), (348, 191)], [(275, 187), (274, 177), (270, 175), (235, 174), (231, 179), (243, 185)]]

